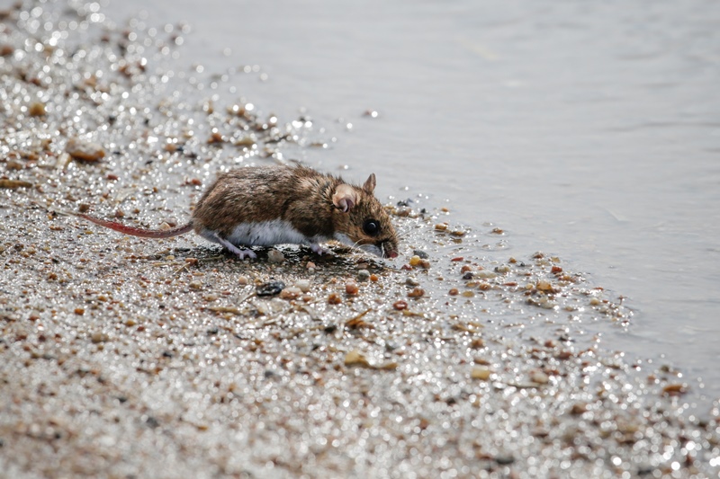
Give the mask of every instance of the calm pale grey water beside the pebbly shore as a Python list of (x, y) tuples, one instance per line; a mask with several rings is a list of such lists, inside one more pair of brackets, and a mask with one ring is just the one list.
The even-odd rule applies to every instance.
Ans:
[(509, 253), (559, 254), (635, 310), (606, 344), (673, 363), (701, 402), (720, 396), (720, 4), (133, 0), (108, 12), (141, 10), (150, 25), (192, 26), (178, 67), (258, 65), (238, 96), (284, 118), (302, 108), (337, 138), (303, 160), (500, 226)]

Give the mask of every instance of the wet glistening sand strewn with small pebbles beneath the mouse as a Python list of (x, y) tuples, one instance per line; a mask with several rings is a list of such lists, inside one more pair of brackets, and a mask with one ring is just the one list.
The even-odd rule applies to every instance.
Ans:
[[(93, 5), (2, 16), (0, 475), (718, 473), (717, 408), (687, 412), (681, 370), (600, 341), (633, 320), (622, 292), (452, 204), (389, 204), (394, 262), (240, 262), (67, 215), (173, 225), (216, 173), (330, 141), (179, 78), (183, 25)], [(269, 281), (302, 294), (258, 297)]]

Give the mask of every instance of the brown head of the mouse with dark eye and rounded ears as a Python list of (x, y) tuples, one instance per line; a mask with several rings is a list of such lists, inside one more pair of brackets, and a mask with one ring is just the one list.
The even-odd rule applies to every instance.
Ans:
[(373, 191), (375, 175), (362, 187), (341, 183), (332, 195), (335, 239), (384, 258), (398, 255), (398, 235)]

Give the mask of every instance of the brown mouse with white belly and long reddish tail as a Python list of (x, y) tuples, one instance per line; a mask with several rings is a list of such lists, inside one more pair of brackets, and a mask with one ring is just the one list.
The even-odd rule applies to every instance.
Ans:
[(190, 221), (165, 230), (142, 229), (74, 213), (125, 235), (169, 238), (194, 231), (240, 259), (250, 246), (302, 244), (314, 253), (331, 240), (383, 258), (398, 256), (398, 235), (374, 197), (375, 175), (362, 186), (304, 165), (247, 166), (221, 173), (202, 193)]

